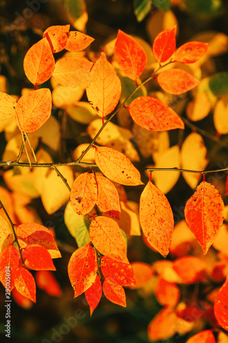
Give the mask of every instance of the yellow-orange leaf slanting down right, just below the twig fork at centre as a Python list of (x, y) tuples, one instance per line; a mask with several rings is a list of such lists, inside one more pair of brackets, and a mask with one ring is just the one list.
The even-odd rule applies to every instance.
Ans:
[(111, 147), (96, 147), (95, 161), (97, 167), (110, 180), (121, 185), (142, 185), (140, 172), (124, 154)]

